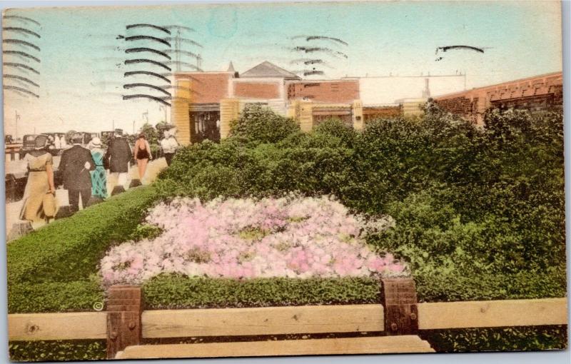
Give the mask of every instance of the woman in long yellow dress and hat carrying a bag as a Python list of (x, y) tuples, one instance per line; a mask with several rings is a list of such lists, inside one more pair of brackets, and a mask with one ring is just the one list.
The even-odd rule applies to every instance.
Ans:
[(28, 181), (24, 189), (24, 205), (20, 213), (21, 220), (31, 221), (36, 228), (47, 222), (44, 213), (44, 196), (56, 193), (54, 187), (54, 161), (51, 153), (46, 151), (47, 136), (37, 136), (34, 151), (24, 156), (28, 162)]

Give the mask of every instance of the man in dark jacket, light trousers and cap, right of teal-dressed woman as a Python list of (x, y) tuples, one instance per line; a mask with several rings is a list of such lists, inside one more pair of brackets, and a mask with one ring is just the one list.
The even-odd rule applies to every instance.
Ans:
[(123, 130), (115, 129), (113, 138), (108, 142), (107, 152), (103, 157), (103, 164), (108, 166), (109, 173), (113, 176), (113, 178), (110, 176), (113, 181), (110, 183), (110, 191), (113, 191), (115, 184), (127, 188), (127, 174), (131, 158), (133, 158), (133, 153), (131, 153), (129, 142), (123, 137)]

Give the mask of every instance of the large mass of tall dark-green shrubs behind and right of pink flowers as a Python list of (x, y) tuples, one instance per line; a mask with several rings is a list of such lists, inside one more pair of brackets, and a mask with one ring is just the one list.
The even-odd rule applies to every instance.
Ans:
[(395, 228), (370, 243), (409, 261), (426, 299), (564, 294), (562, 114), (488, 111), (478, 128), (426, 111), (361, 133), (335, 120), (300, 133), (252, 108), (231, 138), (184, 148), (157, 188), (206, 200), (334, 194), (355, 211), (388, 213)]

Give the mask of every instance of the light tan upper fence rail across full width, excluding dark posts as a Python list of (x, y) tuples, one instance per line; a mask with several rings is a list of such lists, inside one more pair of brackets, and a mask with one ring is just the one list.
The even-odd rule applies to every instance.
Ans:
[[(567, 325), (567, 298), (418, 303), (418, 315), (420, 330)], [(384, 330), (382, 305), (146, 310), (142, 324), (143, 338)], [(11, 341), (104, 339), (106, 312), (14, 313), (8, 333)]]

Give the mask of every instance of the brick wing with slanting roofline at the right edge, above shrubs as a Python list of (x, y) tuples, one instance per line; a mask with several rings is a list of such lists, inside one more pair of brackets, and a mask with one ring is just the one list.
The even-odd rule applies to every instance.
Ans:
[(483, 125), (487, 108), (525, 108), (532, 111), (563, 107), (563, 74), (555, 72), (468, 91), (436, 96), (451, 113)]

